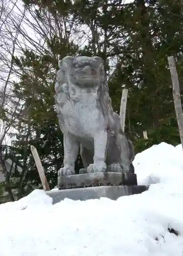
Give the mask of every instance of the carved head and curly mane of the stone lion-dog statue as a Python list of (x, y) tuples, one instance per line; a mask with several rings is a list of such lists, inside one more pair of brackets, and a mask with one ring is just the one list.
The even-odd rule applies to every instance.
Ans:
[(102, 58), (66, 56), (59, 60), (55, 91), (57, 113), (62, 113), (62, 108), (68, 101), (78, 102), (82, 94), (87, 93), (97, 100), (97, 106), (107, 119), (108, 126), (114, 125), (114, 113)]

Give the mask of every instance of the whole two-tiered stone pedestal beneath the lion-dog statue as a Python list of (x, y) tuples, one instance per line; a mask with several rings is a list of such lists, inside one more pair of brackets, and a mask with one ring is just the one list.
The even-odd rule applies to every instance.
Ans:
[(58, 190), (46, 191), (53, 198), (53, 204), (65, 198), (89, 200), (106, 197), (117, 200), (121, 196), (140, 194), (147, 186), (137, 185), (136, 174), (125, 173), (86, 173), (58, 177)]

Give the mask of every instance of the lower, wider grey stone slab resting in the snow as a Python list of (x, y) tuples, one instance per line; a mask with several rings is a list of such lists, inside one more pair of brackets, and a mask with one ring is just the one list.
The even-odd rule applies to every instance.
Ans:
[(99, 199), (106, 197), (112, 200), (117, 200), (122, 196), (141, 194), (148, 190), (148, 186), (98, 186), (98, 187), (82, 187), (62, 190), (46, 191), (46, 194), (53, 198), (53, 204), (61, 202), (68, 198), (72, 200), (86, 201), (89, 199)]

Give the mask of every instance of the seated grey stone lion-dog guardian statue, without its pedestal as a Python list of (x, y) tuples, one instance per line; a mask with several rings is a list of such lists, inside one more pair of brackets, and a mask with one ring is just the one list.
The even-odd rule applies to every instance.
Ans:
[(58, 175), (75, 174), (79, 148), (88, 173), (134, 173), (133, 146), (113, 112), (102, 59), (67, 56), (60, 60), (55, 91), (64, 135), (64, 167)]

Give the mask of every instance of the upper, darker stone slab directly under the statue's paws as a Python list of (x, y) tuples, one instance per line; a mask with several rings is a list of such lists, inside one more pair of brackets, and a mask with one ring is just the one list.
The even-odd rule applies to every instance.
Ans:
[(58, 177), (59, 189), (119, 185), (137, 185), (137, 175), (104, 172)]

